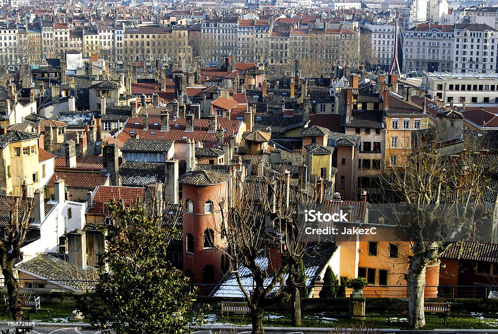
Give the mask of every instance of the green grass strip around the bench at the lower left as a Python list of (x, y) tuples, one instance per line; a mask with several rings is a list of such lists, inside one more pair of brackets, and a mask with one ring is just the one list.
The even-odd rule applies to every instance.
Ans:
[[(25, 311), (24, 317), (33, 321), (41, 321), (41, 322), (67, 322), (66, 318), (70, 317), (72, 312), (75, 310), (74, 304), (70, 303), (44, 303), (41, 302), (41, 308), (38, 312), (34, 312), (33, 310)], [(50, 314), (50, 317), (47, 318), (47, 311)], [(8, 310), (6, 308), (1, 309), (0, 311), (0, 320), (8, 321), (12, 320)]]

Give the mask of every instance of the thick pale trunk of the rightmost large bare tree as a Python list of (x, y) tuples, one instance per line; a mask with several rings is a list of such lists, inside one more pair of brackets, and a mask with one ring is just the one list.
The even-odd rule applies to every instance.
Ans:
[(407, 274), (409, 327), (419, 329), (425, 326), (424, 289), (427, 265), (422, 255), (414, 255)]

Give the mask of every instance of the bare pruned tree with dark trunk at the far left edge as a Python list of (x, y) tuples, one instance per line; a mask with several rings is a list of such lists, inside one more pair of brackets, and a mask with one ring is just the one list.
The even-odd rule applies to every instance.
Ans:
[(4, 227), (4, 236), (0, 238), (0, 266), (7, 287), (8, 309), (13, 320), (21, 320), (23, 299), (14, 275), (14, 264), (22, 258), (21, 247), (33, 220), (35, 199), (3, 196), (1, 201), (1, 205), (9, 208), (9, 218)]

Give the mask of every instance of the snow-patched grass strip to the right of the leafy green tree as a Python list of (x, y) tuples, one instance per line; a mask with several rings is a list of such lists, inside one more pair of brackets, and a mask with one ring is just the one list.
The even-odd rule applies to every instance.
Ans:
[[(352, 320), (348, 318), (336, 318), (333, 316), (322, 315), (322, 321), (319, 322), (317, 314), (303, 313), (302, 327), (351, 327), (353, 324), (368, 324), (369, 327), (381, 328), (407, 328), (408, 318), (404, 314), (393, 312), (368, 313), (369, 316), (389, 316), (390, 323), (386, 318), (367, 318), (366, 320)], [(269, 320), (268, 320), (269, 316)], [(498, 319), (479, 319), (479, 315), (472, 318), (447, 318), (446, 325), (444, 318), (435, 314), (426, 314), (426, 326), (424, 329), (497, 329)], [(245, 315), (207, 315), (205, 325), (250, 325), (250, 314)], [(263, 326), (267, 327), (291, 327), (290, 316), (288, 313), (268, 313), (265, 314)]]

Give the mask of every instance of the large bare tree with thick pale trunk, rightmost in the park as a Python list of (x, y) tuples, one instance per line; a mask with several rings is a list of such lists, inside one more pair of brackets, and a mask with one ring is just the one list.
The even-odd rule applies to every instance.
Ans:
[[(423, 141), (420, 140), (419, 143)], [(454, 242), (473, 235), (477, 218), (486, 220), (486, 206), (479, 205), (487, 191), (483, 157), (445, 156), (436, 141), (419, 145), (403, 165), (386, 171), (383, 179), (390, 217), (404, 232), (410, 245), (407, 257), (409, 326), (425, 325), (424, 288), (426, 271), (439, 264), (439, 257)]]

